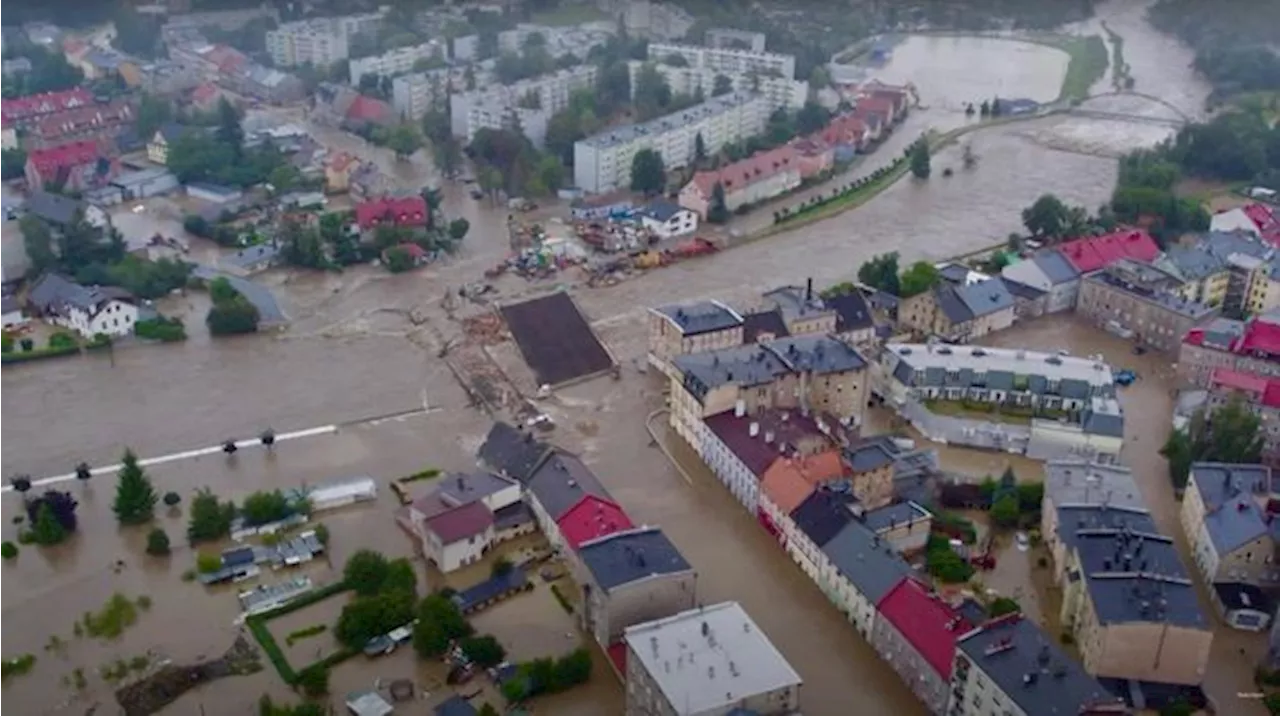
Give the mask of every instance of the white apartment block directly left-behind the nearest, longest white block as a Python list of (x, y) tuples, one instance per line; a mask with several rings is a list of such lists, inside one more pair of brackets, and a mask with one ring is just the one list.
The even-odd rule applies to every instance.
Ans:
[[(585, 64), (513, 85), (454, 95), (449, 118), (453, 134), (470, 142), (480, 129), (508, 128), (518, 120), (525, 136), (541, 149), (552, 115), (568, 106), (575, 91), (594, 87), (596, 73), (594, 64)], [(521, 106), (530, 96), (538, 97), (538, 106)]]

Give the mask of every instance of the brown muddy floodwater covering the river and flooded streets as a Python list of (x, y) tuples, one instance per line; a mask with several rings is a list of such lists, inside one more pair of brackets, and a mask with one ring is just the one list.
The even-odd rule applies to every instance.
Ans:
[[(1111, 29), (1125, 37), (1125, 58), (1137, 88), (1189, 114), (1198, 113), (1207, 88), (1189, 69), (1189, 54), (1151, 29), (1138, 5), (1110, 3), (1100, 8)], [(1087, 29), (1098, 31), (1091, 24)], [(859, 170), (887, 163), (928, 128), (968, 122), (963, 113), (966, 101), (996, 94), (1055, 96), (1065, 67), (1061, 56), (1041, 46), (1004, 44), (1012, 46), (1005, 55), (998, 54), (1002, 41), (996, 40), (928, 40), (900, 46), (893, 61), (905, 64), (884, 68), (886, 77), (896, 79), (893, 73), (900, 73), (915, 78), (928, 109), (913, 114)], [(1000, 61), (1016, 64), (1016, 72), (996, 73), (996, 85), (983, 86), (987, 68)], [(1096, 102), (1108, 111), (1167, 111), (1133, 97)], [(952, 147), (936, 156), (933, 179), (902, 181), (856, 211), (612, 288), (577, 291), (580, 305), (623, 371), (621, 380), (580, 386), (557, 396), (549, 407), (561, 425), (556, 439), (582, 451), (637, 523), (660, 524), (667, 530), (699, 570), (704, 602), (742, 602), (804, 678), (806, 713), (844, 715), (850, 703), (858, 704), (858, 713), (870, 716), (920, 713), (905, 687), (696, 460), (681, 456), (690, 475), (686, 479), (648, 444), (644, 418), (662, 398), (654, 378), (634, 368), (645, 347), (644, 306), (712, 296), (745, 306), (777, 283), (849, 278), (863, 260), (883, 251), (914, 260), (979, 250), (1015, 231), (1019, 211), (1041, 193), (1097, 206), (1115, 181), (1114, 156), (1158, 141), (1167, 131), (1074, 117), (978, 131), (965, 140), (979, 158), (974, 169), (963, 169), (960, 147)], [(367, 151), (349, 137), (316, 134), (321, 141), (348, 142)], [(430, 179), (424, 164), (381, 160), (406, 182)], [(942, 178), (942, 167), (954, 167), (955, 177)], [(472, 223), (460, 257), (397, 277), (365, 269), (324, 277), (269, 275), (265, 281), (278, 289), (293, 319), (284, 333), (216, 343), (197, 334), (180, 346), (124, 346), (110, 357), (0, 370), (0, 414), (5, 418), (0, 423), (0, 466), (9, 473), (54, 475), (81, 460), (114, 462), (124, 446), (142, 455), (161, 455), (253, 435), (266, 427), (284, 432), (337, 424), (332, 435), (282, 443), (273, 453), (202, 457), (156, 468), (152, 475), (161, 491), (174, 489), (188, 498), (201, 485), (237, 497), (264, 487), (287, 488), (353, 474), (385, 480), (424, 465), (465, 469), (488, 424), (466, 405), (435, 357), (443, 341), (457, 332), (439, 305), (448, 287), (474, 281), (504, 254), (504, 214), (470, 200), (461, 184), (447, 184), (445, 195), (445, 209)], [(768, 213), (762, 214), (748, 216), (745, 228), (750, 229), (751, 222), (767, 223)], [(174, 231), (173, 216), (146, 220)], [(500, 296), (509, 298), (554, 284), (503, 279), (499, 288)], [(408, 319), (411, 311), (417, 320)], [(1084, 332), (1075, 333), (1085, 341)], [(1066, 337), (1052, 321), (1042, 321), (1009, 339), (1059, 347)], [(1123, 357), (1123, 347), (1108, 350)], [(1155, 359), (1146, 359), (1142, 369), (1147, 374), (1158, 370)], [(1162, 466), (1155, 456), (1165, 430), (1162, 416), (1169, 414), (1167, 389), (1133, 395), (1148, 397), (1139, 406), (1128, 406), (1130, 415), (1137, 407), (1151, 419), (1130, 421), (1129, 459), (1162, 526), (1176, 532), (1170, 523), (1172, 498), (1161, 483)], [(998, 473), (1005, 464), (1001, 456), (961, 451), (946, 452), (943, 459), (948, 468), (978, 475)], [(1036, 469), (1019, 468), (1020, 474)], [(15, 564), (0, 565), (0, 657), (22, 652), (38, 656), (36, 669), (14, 680), (4, 694), (5, 703), (22, 706), (20, 713), (83, 713), (95, 702), (104, 704), (100, 713), (111, 713), (109, 690), (92, 675), (100, 663), (147, 649), (159, 657), (188, 660), (220, 652), (236, 633), (230, 594), (205, 594), (178, 579), (191, 565), (189, 552), (166, 561), (147, 558), (142, 555), (143, 535), (114, 525), (113, 483), (104, 478), (90, 485), (69, 485), (82, 502), (81, 533), (70, 544), (45, 552), (24, 548)], [(6, 509), (17, 514), (18, 502), (0, 496), (5, 524)], [(326, 517), (334, 564), (366, 546), (389, 555), (410, 553), (408, 542), (392, 524), (393, 509), (390, 496), (384, 494), (376, 505)], [(182, 542), (180, 514), (165, 512), (160, 524), (175, 543)], [(0, 537), (9, 539), (15, 530), (0, 528)], [(116, 560), (124, 560), (125, 566), (113, 569)], [(330, 571), (326, 565), (312, 569), (317, 579)], [(70, 639), (76, 616), (97, 608), (113, 592), (146, 593), (155, 606), (119, 642), (74, 639), (65, 653), (41, 651), (50, 634)], [(1222, 640), (1220, 651), (1229, 658), (1236, 647)], [(87, 696), (73, 698), (61, 679), (77, 666), (90, 672), (90, 688)], [(343, 666), (334, 675), (333, 690), (370, 688), (379, 678), (422, 678), (416, 669), (408, 660)], [(1229, 676), (1219, 678), (1217, 672), (1211, 674), (1210, 687), (1221, 693), (1236, 689)], [(169, 712), (246, 713), (264, 692), (283, 692), (270, 670), (201, 689)], [(621, 711), (620, 703), (621, 692), (602, 667), (593, 685), (573, 698), (566, 696), (548, 712), (614, 713)]]

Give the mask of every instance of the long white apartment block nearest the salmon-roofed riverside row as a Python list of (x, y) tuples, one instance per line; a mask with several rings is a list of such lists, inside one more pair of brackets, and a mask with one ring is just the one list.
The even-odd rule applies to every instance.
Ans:
[(667, 169), (687, 167), (698, 134), (707, 154), (716, 154), (727, 142), (763, 132), (768, 118), (763, 95), (732, 92), (644, 124), (609, 129), (573, 145), (573, 182), (589, 192), (611, 192), (631, 182), (631, 160), (643, 149), (662, 155)]

